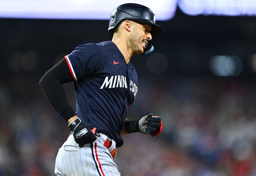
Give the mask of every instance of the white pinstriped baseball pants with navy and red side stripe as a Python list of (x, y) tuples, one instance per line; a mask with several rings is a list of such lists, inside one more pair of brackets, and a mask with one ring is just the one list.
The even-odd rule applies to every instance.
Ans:
[[(104, 146), (107, 136), (100, 137), (93, 144), (80, 148), (70, 135), (59, 149), (55, 162), (57, 176), (120, 176), (117, 165)], [(113, 141), (114, 145), (115, 142)]]

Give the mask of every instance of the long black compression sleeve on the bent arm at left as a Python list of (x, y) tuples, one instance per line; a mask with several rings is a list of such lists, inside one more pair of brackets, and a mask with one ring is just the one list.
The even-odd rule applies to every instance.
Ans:
[(52, 107), (66, 121), (76, 115), (72, 107), (68, 104), (62, 84), (73, 81), (68, 63), (65, 58), (60, 60), (55, 66), (45, 73), (39, 81), (39, 85)]

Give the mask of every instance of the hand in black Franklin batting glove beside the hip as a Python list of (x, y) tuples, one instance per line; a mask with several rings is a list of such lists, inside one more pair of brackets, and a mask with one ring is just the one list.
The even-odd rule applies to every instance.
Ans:
[(92, 127), (89, 124), (83, 123), (79, 118), (73, 120), (68, 127), (77, 144), (90, 144), (97, 139), (91, 131)]

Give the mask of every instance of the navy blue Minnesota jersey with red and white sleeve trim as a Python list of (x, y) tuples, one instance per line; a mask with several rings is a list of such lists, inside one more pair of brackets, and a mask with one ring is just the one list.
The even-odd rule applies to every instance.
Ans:
[(127, 108), (138, 92), (135, 68), (111, 41), (80, 45), (65, 59), (77, 87), (77, 116), (121, 147)]

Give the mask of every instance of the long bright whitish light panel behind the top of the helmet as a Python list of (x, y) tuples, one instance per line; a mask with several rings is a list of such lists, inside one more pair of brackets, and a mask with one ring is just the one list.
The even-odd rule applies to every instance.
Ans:
[(109, 20), (121, 4), (137, 3), (150, 8), (157, 20), (173, 17), (177, 0), (0, 0), (0, 18)]

